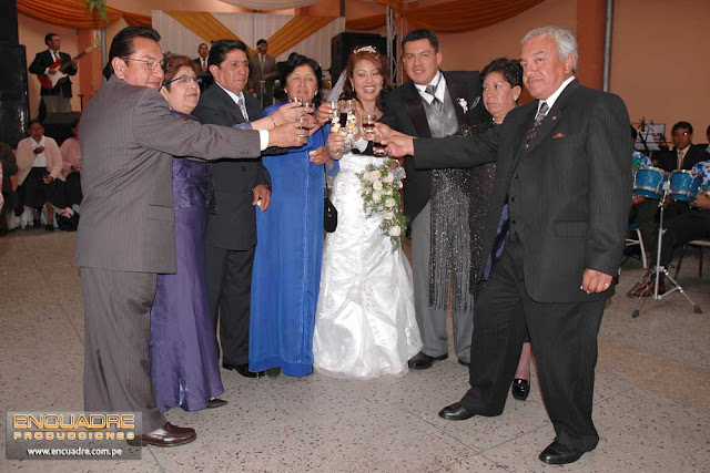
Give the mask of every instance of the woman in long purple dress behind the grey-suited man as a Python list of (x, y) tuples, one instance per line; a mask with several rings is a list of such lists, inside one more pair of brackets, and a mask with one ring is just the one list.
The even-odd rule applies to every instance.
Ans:
[[(190, 113), (200, 100), (192, 60), (166, 58), (161, 94), (173, 114)], [(151, 311), (151, 378), (158, 409), (185, 411), (219, 408), (226, 401), (220, 376), (217, 342), (207, 308), (205, 232), (212, 194), (210, 167), (202, 161), (173, 157), (175, 207), (174, 275), (159, 275)]]

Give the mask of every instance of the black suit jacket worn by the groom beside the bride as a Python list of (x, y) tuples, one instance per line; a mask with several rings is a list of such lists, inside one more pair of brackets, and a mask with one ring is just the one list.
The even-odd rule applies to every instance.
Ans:
[[(483, 116), (488, 116), (480, 97), (480, 76), (474, 72), (444, 72), (446, 86), (456, 109), (458, 126), (470, 124)], [(458, 99), (468, 103), (468, 112), (458, 104)], [(476, 106), (474, 104), (478, 101)], [(412, 136), (430, 137), (429, 124), (419, 92), (414, 82), (407, 82), (389, 92), (385, 97), (385, 114), (382, 122), (392, 128)], [(404, 213), (414, 219), (432, 195), (432, 171), (416, 169), (414, 162), (406, 158), (404, 163), (407, 178), (404, 181)]]

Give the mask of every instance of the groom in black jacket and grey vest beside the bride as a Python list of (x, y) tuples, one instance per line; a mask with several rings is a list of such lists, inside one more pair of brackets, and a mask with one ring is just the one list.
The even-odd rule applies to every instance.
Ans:
[[(413, 136), (443, 137), (456, 133), (471, 115), (487, 115), (483, 103), (478, 104), (478, 72), (439, 71), (442, 53), (433, 31), (410, 31), (402, 40), (402, 48), (404, 68), (410, 81), (387, 95), (383, 123)], [(448, 358), (447, 310), (429, 301), (432, 171), (416, 169), (412, 160), (405, 160), (404, 167), (407, 173), (404, 212), (412, 222), (414, 304), (424, 343), (422, 351), (409, 360), (409, 368), (423, 370)], [(464, 225), (468, 225), (468, 215), (462, 218)], [(454, 346), (462, 364), (470, 361), (473, 323), (473, 307), (454, 310)]]

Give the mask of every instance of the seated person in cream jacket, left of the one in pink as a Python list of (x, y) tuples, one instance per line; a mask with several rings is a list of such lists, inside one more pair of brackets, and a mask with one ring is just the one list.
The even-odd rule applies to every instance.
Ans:
[(30, 136), (18, 143), (18, 194), (20, 207), (32, 209), (34, 228), (40, 228), (40, 213), (47, 208), (47, 232), (54, 230), (54, 206), (64, 207), (62, 155), (57, 142), (44, 136), (39, 120), (30, 120)]

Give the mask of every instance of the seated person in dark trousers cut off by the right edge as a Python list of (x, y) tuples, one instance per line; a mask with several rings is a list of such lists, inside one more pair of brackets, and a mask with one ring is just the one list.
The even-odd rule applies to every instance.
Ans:
[[(673, 249), (698, 238), (710, 237), (710, 161), (702, 161), (692, 167), (702, 178), (701, 192), (690, 205), (690, 210), (679, 215), (666, 225), (661, 240), (660, 266), (668, 269), (673, 257)], [(658, 280), (658, 292), (666, 292), (665, 276)], [(648, 297), (653, 294), (655, 280), (648, 280), (635, 288), (635, 296)]]

